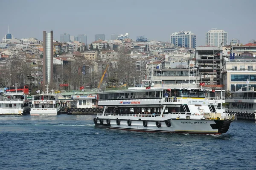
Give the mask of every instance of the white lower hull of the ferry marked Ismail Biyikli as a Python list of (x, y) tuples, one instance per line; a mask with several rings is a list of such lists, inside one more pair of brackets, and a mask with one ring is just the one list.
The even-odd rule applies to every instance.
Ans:
[[(102, 120), (102, 121), (100, 121)], [(138, 132), (161, 132), (161, 133), (191, 133), (191, 134), (222, 134), (226, 133), (230, 127), (231, 121), (220, 120), (166, 120), (166, 121), (147, 121), (147, 126), (143, 121), (131, 120), (131, 125), (128, 125), (128, 120), (119, 120), (119, 125), (116, 119), (96, 119), (94, 120), (95, 127), (104, 127), (110, 129), (129, 130)], [(129, 120), (130, 121), (130, 120)], [(160, 127), (159, 127), (160, 123)], [(158, 125), (158, 126), (157, 126)], [(167, 125), (170, 125), (168, 127)]]

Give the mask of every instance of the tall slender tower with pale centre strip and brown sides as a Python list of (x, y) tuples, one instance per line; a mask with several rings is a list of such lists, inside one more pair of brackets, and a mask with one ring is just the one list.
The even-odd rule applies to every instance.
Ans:
[(53, 31), (43, 32), (43, 47), (43, 82), (44, 85), (49, 85), (53, 80)]

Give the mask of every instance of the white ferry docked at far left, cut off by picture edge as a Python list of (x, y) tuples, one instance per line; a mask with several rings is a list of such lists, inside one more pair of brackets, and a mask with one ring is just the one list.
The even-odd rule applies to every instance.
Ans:
[(29, 100), (23, 92), (0, 95), (0, 115), (26, 115), (29, 109)]

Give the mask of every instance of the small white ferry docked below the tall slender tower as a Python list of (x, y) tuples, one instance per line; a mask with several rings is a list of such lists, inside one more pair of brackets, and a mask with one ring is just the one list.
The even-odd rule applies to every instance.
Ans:
[(58, 115), (61, 111), (58, 103), (58, 95), (48, 94), (48, 90), (45, 94), (32, 95), (30, 115)]

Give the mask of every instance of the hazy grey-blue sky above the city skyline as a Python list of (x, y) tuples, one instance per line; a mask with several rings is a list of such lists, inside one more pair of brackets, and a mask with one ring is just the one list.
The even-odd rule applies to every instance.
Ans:
[(228, 39), (241, 43), (256, 39), (256, 0), (0, 0), (0, 40), (10, 33), (16, 38), (42, 40), (53, 30), (55, 40), (64, 32), (87, 35), (129, 33), (132, 39), (169, 41), (173, 32), (191, 31), (197, 46), (205, 44), (211, 28), (224, 29)]

